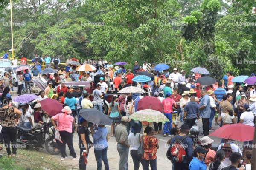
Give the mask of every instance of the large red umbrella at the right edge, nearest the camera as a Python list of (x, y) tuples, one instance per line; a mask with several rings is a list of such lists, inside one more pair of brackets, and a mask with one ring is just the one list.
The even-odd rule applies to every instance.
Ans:
[(252, 141), (254, 134), (254, 127), (244, 125), (242, 123), (222, 126), (212, 132), (209, 136), (216, 136), (219, 138), (233, 139), (237, 141)]

